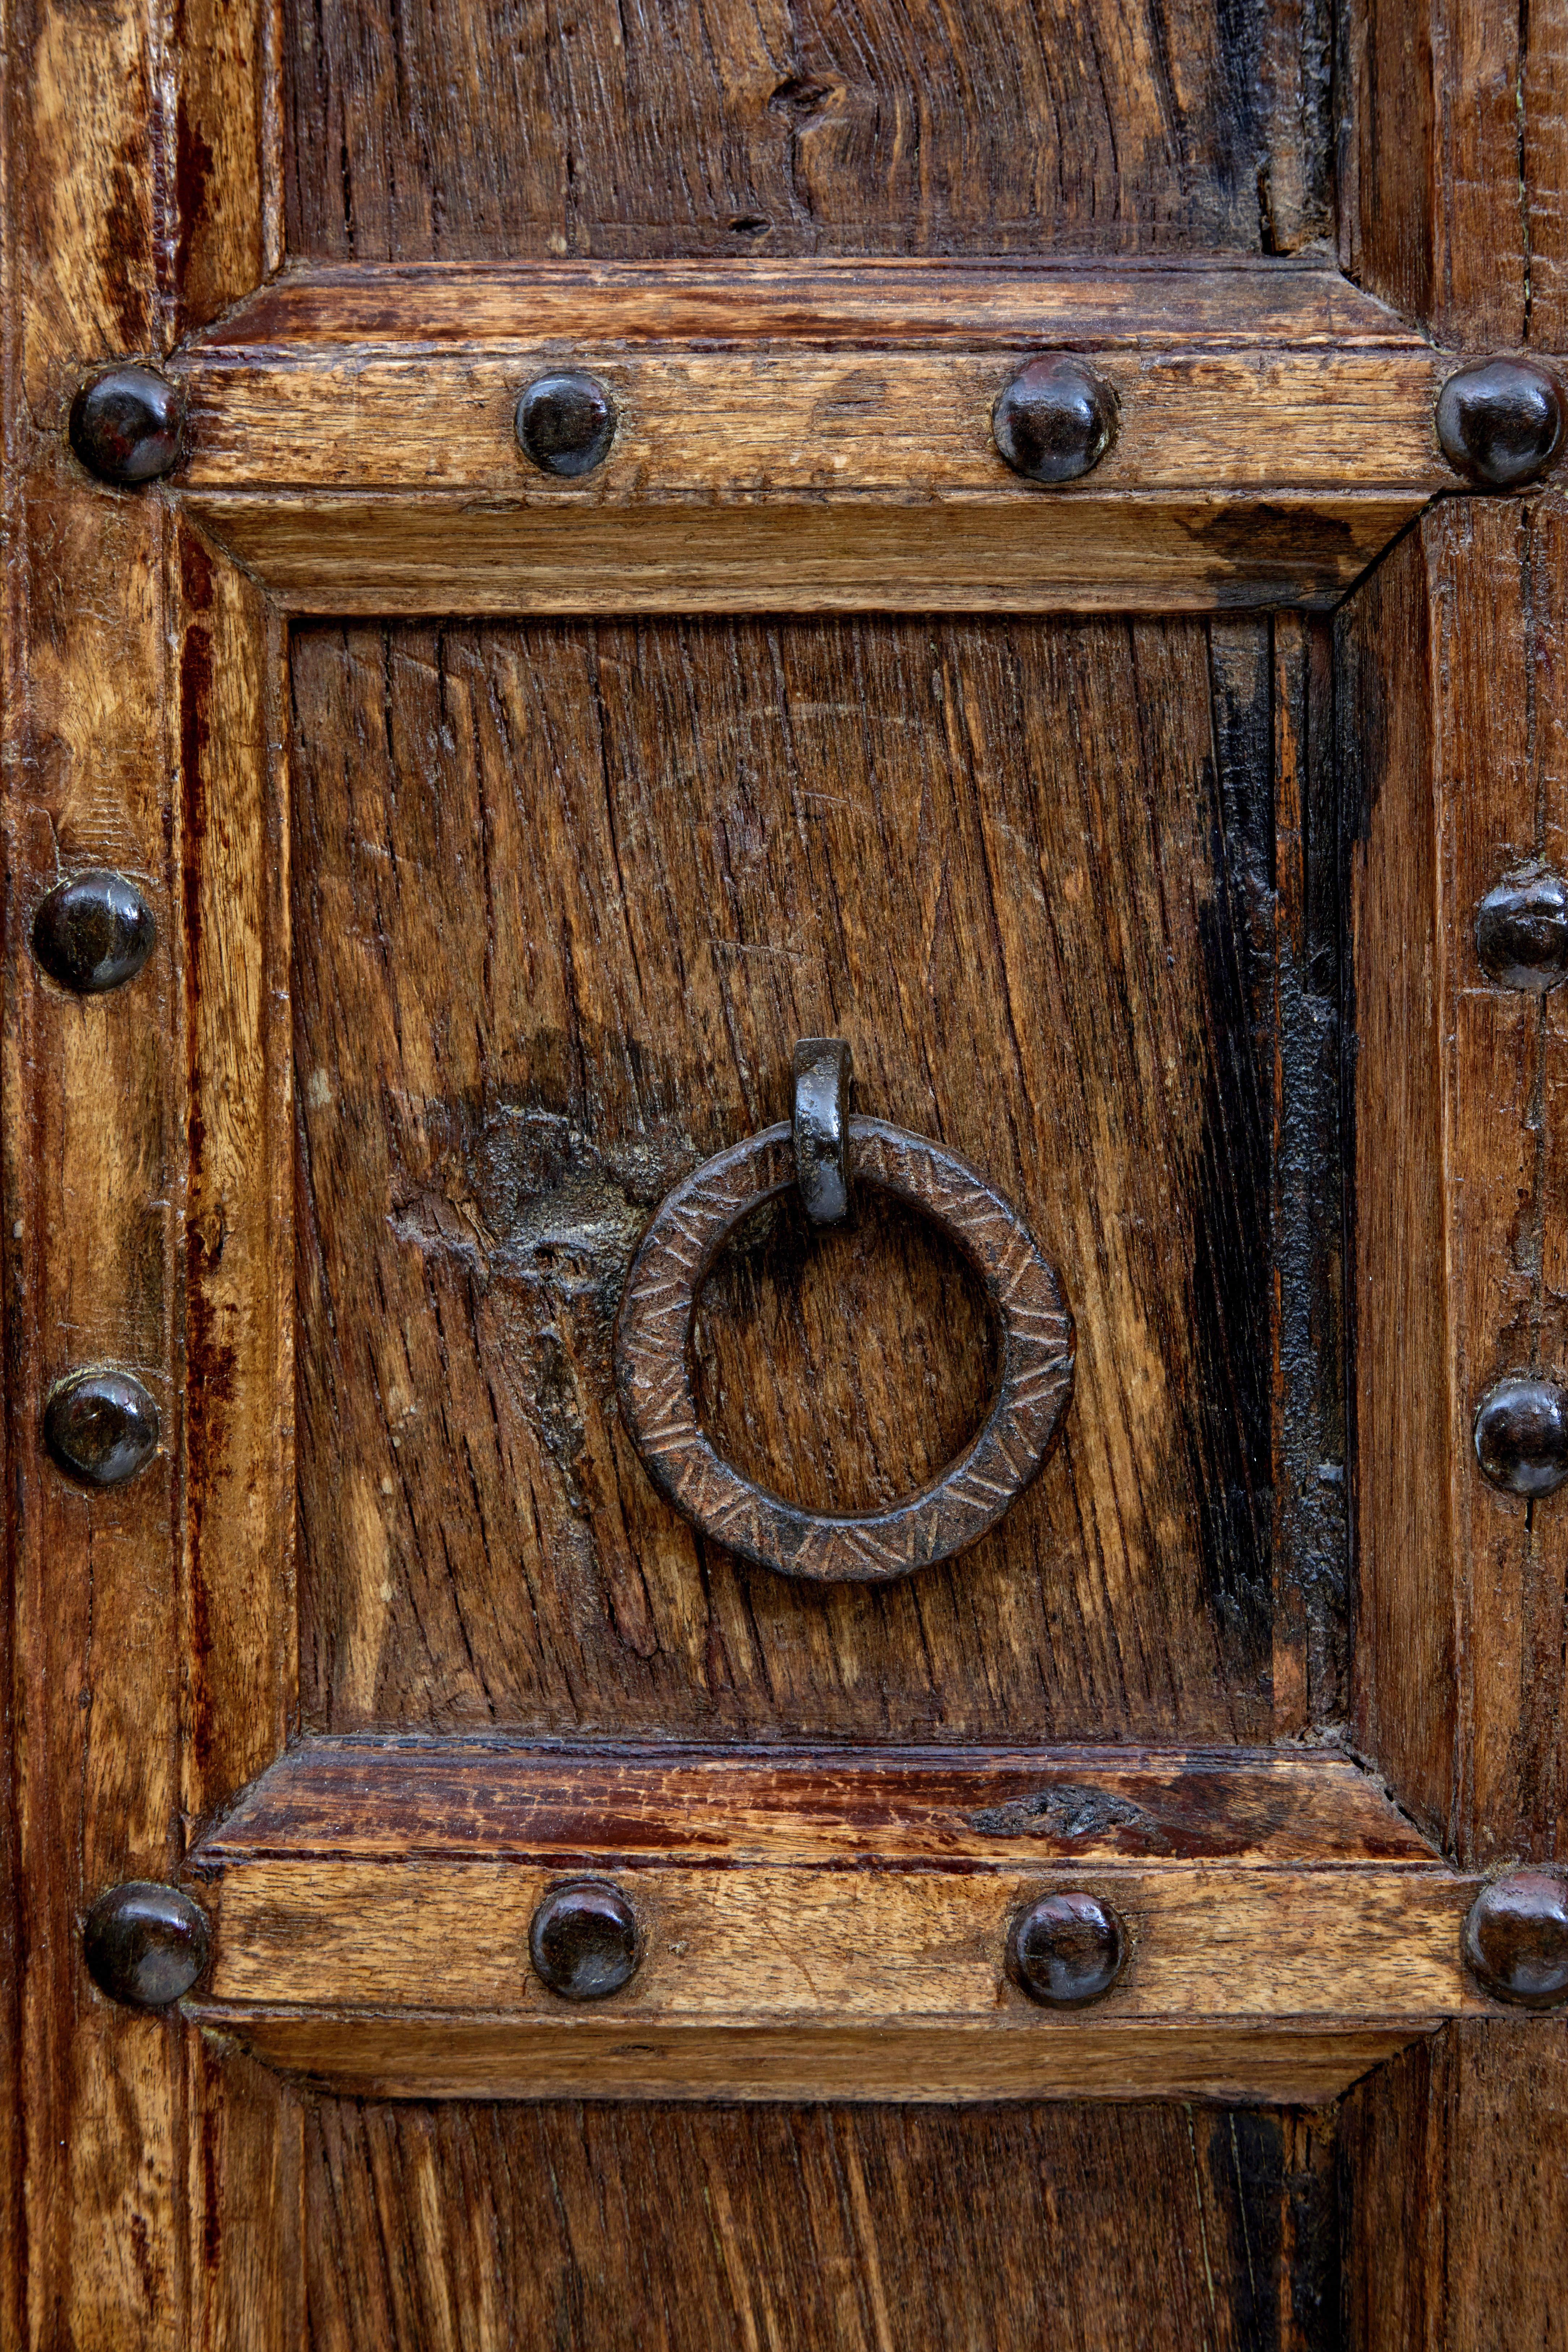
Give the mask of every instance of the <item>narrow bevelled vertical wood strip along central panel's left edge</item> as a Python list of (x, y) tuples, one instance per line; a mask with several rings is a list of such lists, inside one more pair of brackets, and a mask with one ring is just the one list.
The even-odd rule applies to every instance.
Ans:
[(296, 1705), (287, 652), (254, 583), (188, 529), (174, 562), (188, 1040), (183, 1804), (195, 1823), (270, 1764)]

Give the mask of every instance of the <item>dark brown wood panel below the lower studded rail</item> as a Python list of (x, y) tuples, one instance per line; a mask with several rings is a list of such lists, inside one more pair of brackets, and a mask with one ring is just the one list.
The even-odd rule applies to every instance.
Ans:
[(315, 2352), (1338, 2345), (1328, 2133), (1276, 2110), (322, 2100), (306, 2197)]

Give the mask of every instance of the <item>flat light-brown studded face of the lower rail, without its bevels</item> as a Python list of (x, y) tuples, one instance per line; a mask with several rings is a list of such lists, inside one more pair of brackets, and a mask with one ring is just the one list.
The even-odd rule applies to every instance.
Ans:
[[(1086, 1865), (966, 1863), (882, 1870), (867, 1853), (851, 1872), (712, 1870), (682, 1867), (677, 1849), (628, 1870), (646, 1957), (614, 2016), (628, 2032), (978, 2023), (1070, 2060), (1079, 2020), (1009, 1983), (1006, 1926), (1023, 1903), (1079, 1884)], [(205, 1896), (216, 1929), (202, 1999), (400, 2011), (409, 2042), (437, 2049), (444, 2020), (468, 2016), (538, 2018), (569, 2039), (592, 2011), (564, 2009), (524, 1966), (529, 1919), (559, 1877), (512, 1858), (230, 1858)], [(1098, 2025), (1288, 2018), (1415, 2032), (1488, 2006), (1460, 1971), (1476, 1882), (1436, 1863), (1100, 1863), (1088, 1891), (1133, 1938), (1126, 1976), (1095, 2002)]]

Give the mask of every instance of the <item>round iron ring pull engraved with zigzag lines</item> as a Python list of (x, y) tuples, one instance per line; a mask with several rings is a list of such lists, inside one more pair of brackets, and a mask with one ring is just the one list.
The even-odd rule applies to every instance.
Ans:
[(891, 1510), (818, 1512), (757, 1486), (703, 1430), (691, 1390), (696, 1301), (736, 1225), (802, 1178), (792, 1124), (748, 1136), (663, 1197), (621, 1294), (616, 1385), (654, 1484), (715, 1543), (780, 1576), (886, 1583), (961, 1552), (1030, 1484), (1072, 1392), (1072, 1315), (1018, 1211), (966, 1160), (882, 1120), (844, 1120), (844, 1136), (856, 1183), (940, 1225), (985, 1289), (999, 1371), (966, 1451)]

